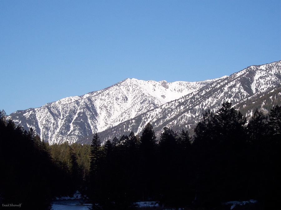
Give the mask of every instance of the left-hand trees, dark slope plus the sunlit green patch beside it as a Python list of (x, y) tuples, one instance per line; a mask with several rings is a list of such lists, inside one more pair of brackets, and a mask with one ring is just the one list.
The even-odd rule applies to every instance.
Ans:
[(47, 210), (55, 197), (85, 189), (89, 153), (90, 145), (50, 146), (0, 112), (0, 208), (21, 203), (22, 209)]

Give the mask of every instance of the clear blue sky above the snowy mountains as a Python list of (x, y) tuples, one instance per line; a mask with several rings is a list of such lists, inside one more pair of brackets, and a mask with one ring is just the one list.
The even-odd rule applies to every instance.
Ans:
[(281, 1), (0, 1), (0, 109), (281, 59)]

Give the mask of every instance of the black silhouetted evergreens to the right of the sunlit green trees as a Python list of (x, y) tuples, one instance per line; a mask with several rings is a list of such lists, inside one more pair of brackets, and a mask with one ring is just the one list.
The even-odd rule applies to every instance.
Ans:
[[(269, 116), (244, 116), (225, 102), (203, 114), (193, 137), (153, 127), (141, 136), (116, 137), (101, 146), (91, 141), (88, 196), (93, 209), (132, 209), (141, 200), (167, 206), (218, 207), (232, 200), (256, 199), (261, 209), (276, 208), (281, 169), (281, 107)], [(97, 205), (98, 204), (98, 205)]]

